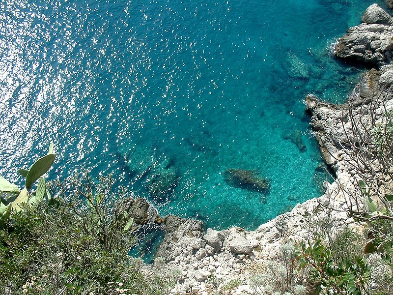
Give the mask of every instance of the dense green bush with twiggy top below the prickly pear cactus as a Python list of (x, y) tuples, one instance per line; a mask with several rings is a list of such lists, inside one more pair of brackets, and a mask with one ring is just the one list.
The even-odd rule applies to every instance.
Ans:
[(56, 183), (56, 206), (38, 200), (23, 204), (0, 223), (0, 286), (31, 295), (168, 294), (143, 275), (140, 259), (128, 255), (135, 238), (131, 226), (124, 228), (131, 219), (124, 217), (124, 200), (110, 201), (112, 180), (103, 177), (94, 186), (100, 197), (92, 207), (74, 198), (86, 185), (89, 190), (89, 183), (80, 177)]

